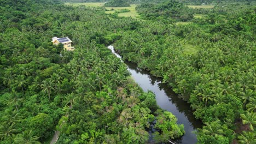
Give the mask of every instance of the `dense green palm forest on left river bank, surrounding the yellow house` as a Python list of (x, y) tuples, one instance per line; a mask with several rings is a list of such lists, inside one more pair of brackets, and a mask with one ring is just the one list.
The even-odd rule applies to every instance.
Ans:
[[(44, 7), (22, 1), (19, 16), (8, 11), (20, 4), (1, 3), (1, 142), (44, 143), (59, 130), (59, 143), (146, 143), (162, 113), (155, 95), (127, 79), (126, 66), (104, 46), (141, 24), (109, 20), (102, 8), (38, 2)], [(71, 38), (75, 51), (53, 45), (55, 36)]]

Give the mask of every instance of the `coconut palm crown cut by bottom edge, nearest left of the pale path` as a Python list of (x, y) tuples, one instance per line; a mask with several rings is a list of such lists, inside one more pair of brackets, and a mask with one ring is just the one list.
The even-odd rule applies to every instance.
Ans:
[(40, 144), (39, 141), (37, 141), (39, 137), (33, 136), (32, 131), (23, 131), (22, 134), (18, 134), (14, 142), (19, 144)]

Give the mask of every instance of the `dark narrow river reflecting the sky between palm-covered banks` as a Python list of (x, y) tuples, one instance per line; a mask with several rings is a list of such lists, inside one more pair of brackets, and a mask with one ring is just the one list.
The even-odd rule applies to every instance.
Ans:
[[(117, 57), (121, 58), (114, 52), (113, 46), (108, 46)], [(170, 111), (178, 118), (178, 124), (184, 124), (185, 134), (177, 140), (176, 143), (196, 143), (196, 135), (193, 133), (197, 128), (202, 127), (202, 122), (197, 120), (189, 104), (178, 97), (162, 79), (151, 75), (148, 71), (139, 69), (136, 64), (124, 62), (127, 65), (127, 70), (130, 71), (133, 80), (143, 89), (143, 91), (152, 91), (155, 93), (156, 103), (161, 109)]]

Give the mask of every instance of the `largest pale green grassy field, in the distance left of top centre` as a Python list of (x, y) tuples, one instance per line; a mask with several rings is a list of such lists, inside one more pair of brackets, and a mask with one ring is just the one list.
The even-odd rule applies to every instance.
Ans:
[[(86, 7), (103, 7), (104, 3), (65, 3), (66, 5), (72, 5), (77, 7), (79, 5), (84, 5)], [(135, 10), (136, 4), (131, 4), (131, 7), (105, 7), (108, 11), (105, 11), (106, 14), (113, 14), (115, 11), (120, 11), (121, 9), (129, 9), (128, 13), (120, 13), (118, 16), (132, 17), (136, 18), (138, 16), (137, 11)]]

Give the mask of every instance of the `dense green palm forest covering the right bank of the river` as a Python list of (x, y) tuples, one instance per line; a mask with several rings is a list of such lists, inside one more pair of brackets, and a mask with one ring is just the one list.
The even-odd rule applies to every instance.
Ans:
[[(142, 4), (138, 11), (147, 10), (144, 14), (150, 14), (160, 5), (164, 7), (164, 3)], [(245, 8), (242, 3), (234, 5)], [(123, 59), (163, 77), (174, 92), (189, 101), (196, 118), (210, 125), (220, 121), (227, 126), (224, 132), (235, 130), (240, 114), (244, 110), (253, 113), (255, 107), (255, 33), (250, 30), (254, 29), (251, 19), (255, 11), (253, 7), (238, 10), (219, 6), (191, 11), (208, 15), (187, 25), (166, 25), (165, 19), (148, 17), (154, 21), (143, 21), (123, 34), (115, 42), (115, 49)], [(196, 47), (196, 52), (188, 53), (187, 45)], [(245, 123), (247, 130), (253, 128), (249, 123)], [(202, 143), (230, 143), (234, 139), (230, 133), (216, 138), (197, 133), (197, 137)]]

